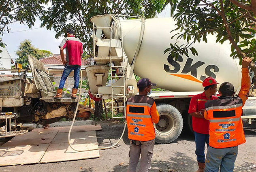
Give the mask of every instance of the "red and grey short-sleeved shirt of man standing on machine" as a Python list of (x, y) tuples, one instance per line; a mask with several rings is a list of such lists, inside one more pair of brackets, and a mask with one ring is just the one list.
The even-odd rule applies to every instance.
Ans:
[(71, 35), (68, 38), (64, 38), (59, 47), (66, 49), (66, 61), (69, 65), (81, 66), (81, 59), (83, 54), (83, 44), (81, 40)]

